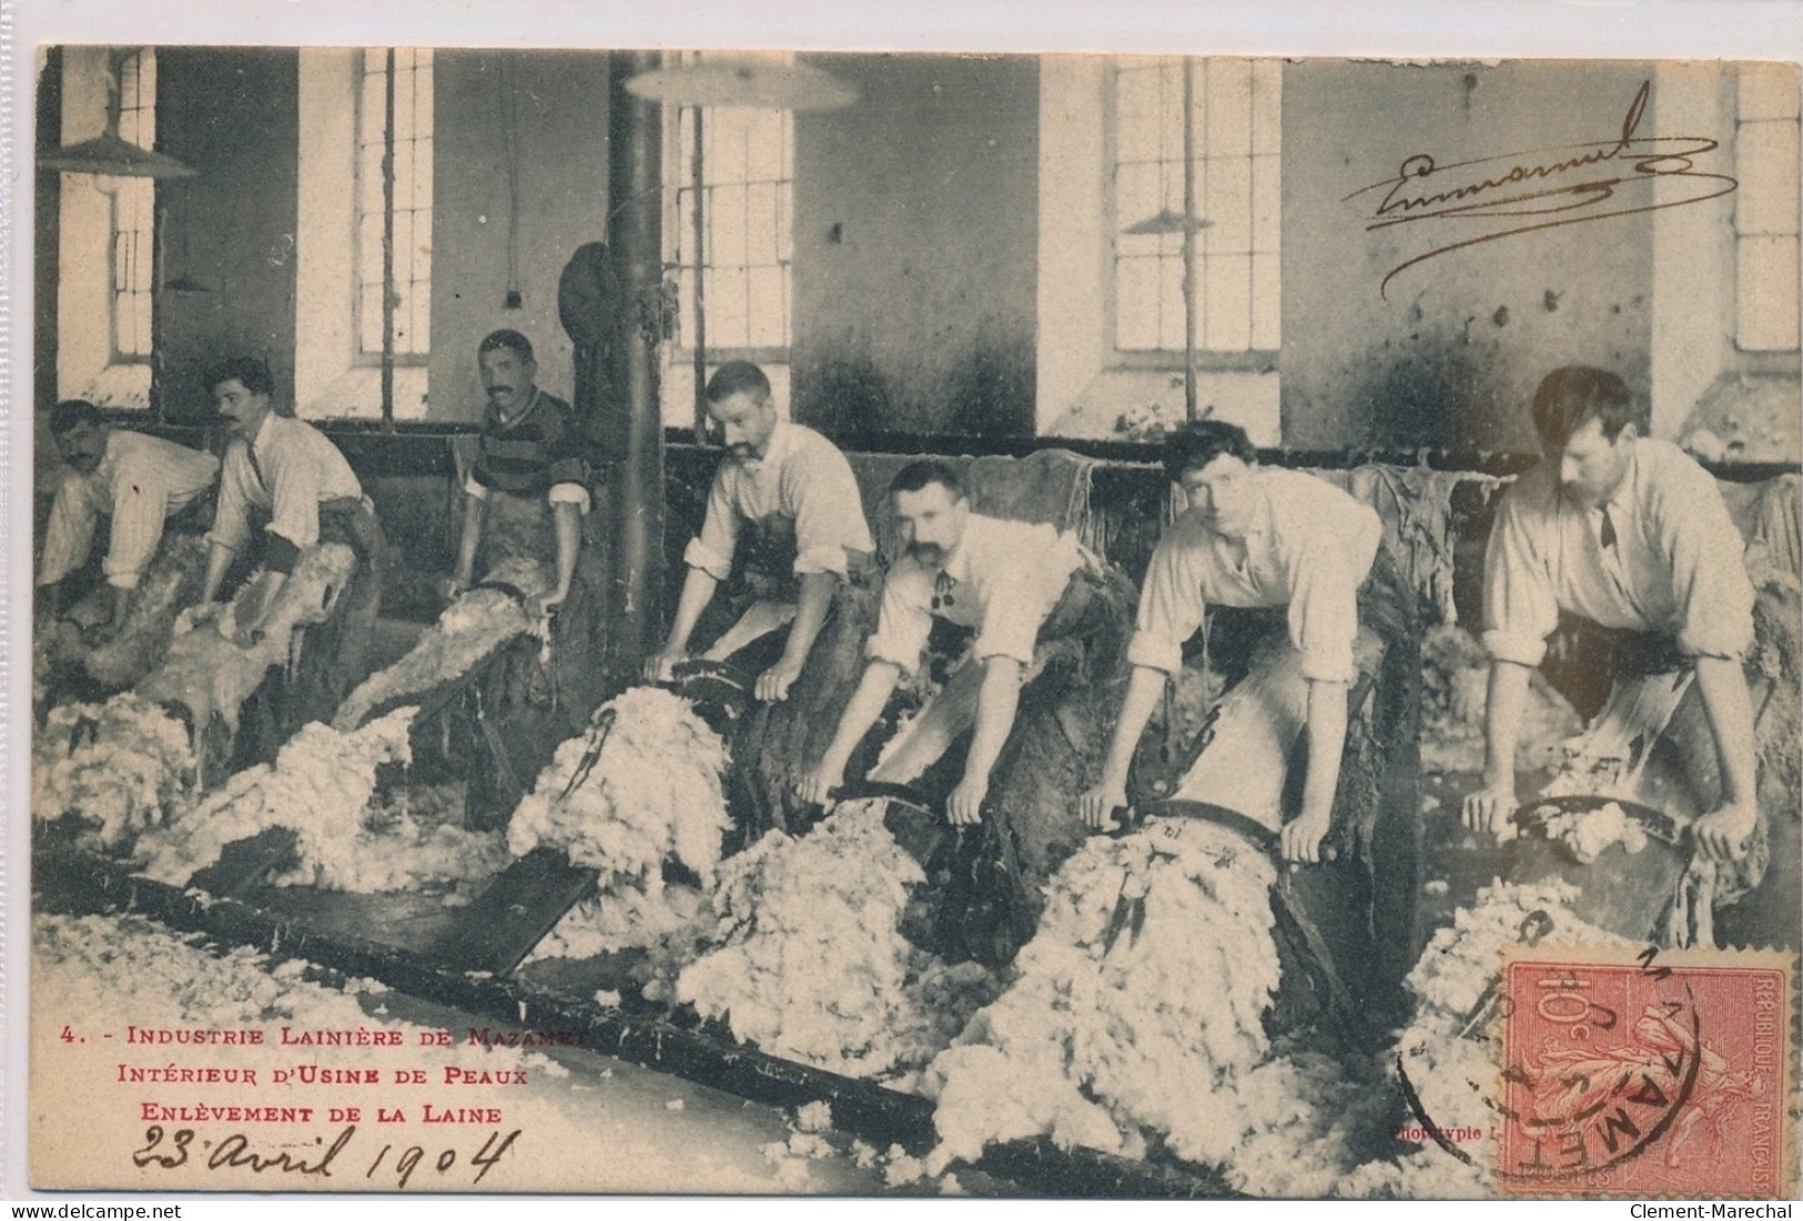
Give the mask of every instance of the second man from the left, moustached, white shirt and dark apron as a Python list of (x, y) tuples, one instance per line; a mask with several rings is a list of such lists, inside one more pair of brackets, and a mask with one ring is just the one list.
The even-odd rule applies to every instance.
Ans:
[[(276, 411), (267, 364), (252, 357), (224, 360), (207, 371), (207, 389), (231, 439), (220, 474), (218, 515), (207, 535), (204, 612), (197, 618), (218, 614), (215, 600), (227, 571), (256, 544), (261, 569), (251, 594), (240, 601), (233, 638), (249, 647), (263, 632), (301, 553), (321, 542), (348, 546), (357, 556), (357, 571), (332, 616), (308, 629), (307, 656), (285, 701), (288, 729), (330, 720), (370, 672), (370, 638), (388, 564), (388, 540), (375, 506), (344, 454), (319, 429)], [(263, 524), (260, 533), (252, 533), (252, 520)]]

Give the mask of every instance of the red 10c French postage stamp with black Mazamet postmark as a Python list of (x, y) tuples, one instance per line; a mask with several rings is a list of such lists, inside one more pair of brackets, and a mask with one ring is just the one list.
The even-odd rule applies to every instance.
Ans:
[(1504, 998), (1502, 1190), (1787, 1192), (1790, 965), (1778, 954), (1565, 951), (1506, 963)]

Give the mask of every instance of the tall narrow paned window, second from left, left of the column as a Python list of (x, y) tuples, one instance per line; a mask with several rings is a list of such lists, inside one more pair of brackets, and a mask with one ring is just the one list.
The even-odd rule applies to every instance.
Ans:
[[(389, 122), (393, 65), (393, 122)], [(393, 351), (424, 362), (431, 351), (433, 277), (433, 52), (371, 47), (357, 95), (357, 351), (380, 357), (384, 297), (393, 301)], [(386, 158), (393, 153), (393, 173)], [(388, 241), (393, 218), (393, 241)], [(384, 252), (393, 249), (391, 270)]]

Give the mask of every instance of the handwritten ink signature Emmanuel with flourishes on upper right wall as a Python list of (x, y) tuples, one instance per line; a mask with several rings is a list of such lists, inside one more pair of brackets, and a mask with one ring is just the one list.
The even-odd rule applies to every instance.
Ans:
[[(1347, 194), (1341, 204), (1381, 191), (1365, 225), (1367, 232), (1423, 222), (1439, 222), (1432, 225), (1435, 231), (1455, 227), (1460, 232), (1453, 241), (1442, 241), (1392, 267), (1377, 288), (1379, 295), (1388, 297), (1390, 281), (1399, 274), (1441, 254), (1560, 225), (1702, 204), (1734, 191), (1740, 185), (1734, 178), (1697, 167), (1697, 158), (1720, 148), (1716, 140), (1704, 135), (1639, 135), (1650, 95), (1652, 81), (1641, 81), (1621, 121), (1621, 133), (1610, 139), (1446, 166), (1428, 153), (1414, 153), (1403, 158), (1394, 178)], [(1675, 184), (1671, 191), (1679, 198), (1652, 204), (1635, 196), (1617, 198), (1617, 189), (1652, 180)], [(1495, 218), (1504, 218), (1504, 225), (1482, 225)], [(1473, 227), (1484, 231), (1462, 236)]]

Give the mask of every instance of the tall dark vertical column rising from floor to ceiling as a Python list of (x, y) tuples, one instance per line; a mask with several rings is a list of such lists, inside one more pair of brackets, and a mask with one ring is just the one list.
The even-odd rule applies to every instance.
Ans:
[(626, 461), (613, 501), (609, 625), (620, 677), (636, 674), (656, 647), (664, 569), (664, 418), (658, 409), (658, 342), (664, 330), (662, 115), (626, 81), (658, 67), (656, 52), (615, 52), (609, 72), (608, 247), (617, 259), (618, 400), (626, 407)]

